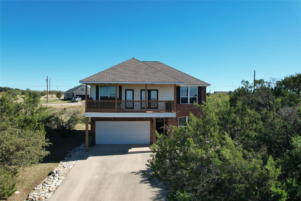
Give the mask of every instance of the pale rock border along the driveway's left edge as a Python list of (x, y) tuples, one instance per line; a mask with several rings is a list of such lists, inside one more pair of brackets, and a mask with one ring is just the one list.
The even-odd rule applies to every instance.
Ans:
[(85, 147), (85, 144), (82, 144), (69, 152), (64, 160), (60, 161), (60, 164), (51, 171), (51, 175), (47, 176), (42, 183), (34, 188), (33, 192), (28, 194), (26, 200), (48, 200), (73, 168), (82, 152), (85, 151)]

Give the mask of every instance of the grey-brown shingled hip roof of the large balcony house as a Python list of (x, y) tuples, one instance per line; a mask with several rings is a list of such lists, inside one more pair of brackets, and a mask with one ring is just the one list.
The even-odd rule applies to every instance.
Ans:
[(82, 82), (177, 82), (185, 85), (209, 85), (161, 62), (145, 62), (132, 58), (114, 65)]

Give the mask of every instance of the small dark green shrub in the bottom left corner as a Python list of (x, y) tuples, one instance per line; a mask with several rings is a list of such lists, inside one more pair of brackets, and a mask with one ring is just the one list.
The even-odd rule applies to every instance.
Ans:
[(1, 166), (0, 169), (0, 199), (5, 199), (14, 193), (17, 171), (14, 168)]

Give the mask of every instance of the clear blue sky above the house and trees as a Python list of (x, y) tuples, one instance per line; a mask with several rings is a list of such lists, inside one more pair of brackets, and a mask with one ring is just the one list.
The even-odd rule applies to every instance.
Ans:
[[(66, 91), (127, 59), (211, 84), (301, 71), (300, 1), (1, 1), (1, 86)], [(58, 87), (57, 87), (58, 86)]]

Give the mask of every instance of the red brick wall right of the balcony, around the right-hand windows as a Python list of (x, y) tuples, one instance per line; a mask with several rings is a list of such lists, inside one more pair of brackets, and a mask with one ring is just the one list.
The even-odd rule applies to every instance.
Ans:
[[(177, 91), (175, 92), (176, 99), (177, 97), (180, 96), (181, 94), (178, 94)], [(202, 101), (206, 102), (206, 87), (202, 87), (201, 91), (201, 99)], [(202, 113), (200, 108), (197, 108), (194, 106), (194, 104), (175, 104), (175, 125), (178, 126), (179, 123), (179, 117), (182, 116), (189, 116), (190, 112), (193, 113), (195, 116), (199, 117)]]

